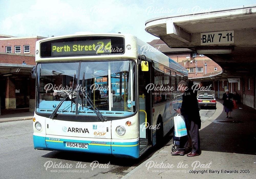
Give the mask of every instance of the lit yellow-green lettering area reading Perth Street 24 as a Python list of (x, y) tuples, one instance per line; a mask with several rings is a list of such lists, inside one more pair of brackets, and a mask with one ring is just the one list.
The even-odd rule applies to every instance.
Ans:
[(51, 43), (51, 56), (111, 54), (111, 39)]

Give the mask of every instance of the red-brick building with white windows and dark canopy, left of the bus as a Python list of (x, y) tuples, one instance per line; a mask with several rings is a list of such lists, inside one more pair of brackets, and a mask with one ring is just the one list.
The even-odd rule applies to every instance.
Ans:
[(0, 90), (1, 113), (33, 111), (36, 41), (45, 37), (14, 37), (0, 34)]

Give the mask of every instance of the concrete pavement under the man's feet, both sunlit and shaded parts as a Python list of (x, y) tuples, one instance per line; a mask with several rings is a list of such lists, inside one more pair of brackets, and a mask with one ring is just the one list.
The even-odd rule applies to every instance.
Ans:
[(214, 115), (202, 121), (200, 156), (172, 156), (173, 144), (164, 146), (123, 178), (255, 178), (256, 110), (239, 107), (229, 119), (217, 102)]

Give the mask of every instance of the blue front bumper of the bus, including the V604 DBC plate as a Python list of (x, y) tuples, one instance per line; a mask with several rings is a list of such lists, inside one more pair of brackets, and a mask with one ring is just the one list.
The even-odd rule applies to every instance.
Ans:
[(40, 150), (77, 151), (112, 154), (116, 157), (138, 158), (139, 138), (101, 139), (33, 134), (34, 148)]

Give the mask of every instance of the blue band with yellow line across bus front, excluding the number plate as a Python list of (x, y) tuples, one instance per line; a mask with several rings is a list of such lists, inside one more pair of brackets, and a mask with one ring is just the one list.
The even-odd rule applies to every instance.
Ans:
[[(41, 137), (33, 135), (34, 148), (42, 150), (67, 150), (67, 151), (79, 151), (98, 154), (113, 154), (119, 157), (138, 158), (140, 148), (137, 142), (99, 142), (89, 140), (73, 140), (73, 139), (61, 139), (50, 140), (49, 137)], [(72, 148), (66, 147), (66, 142), (74, 143), (87, 143), (88, 148)]]

